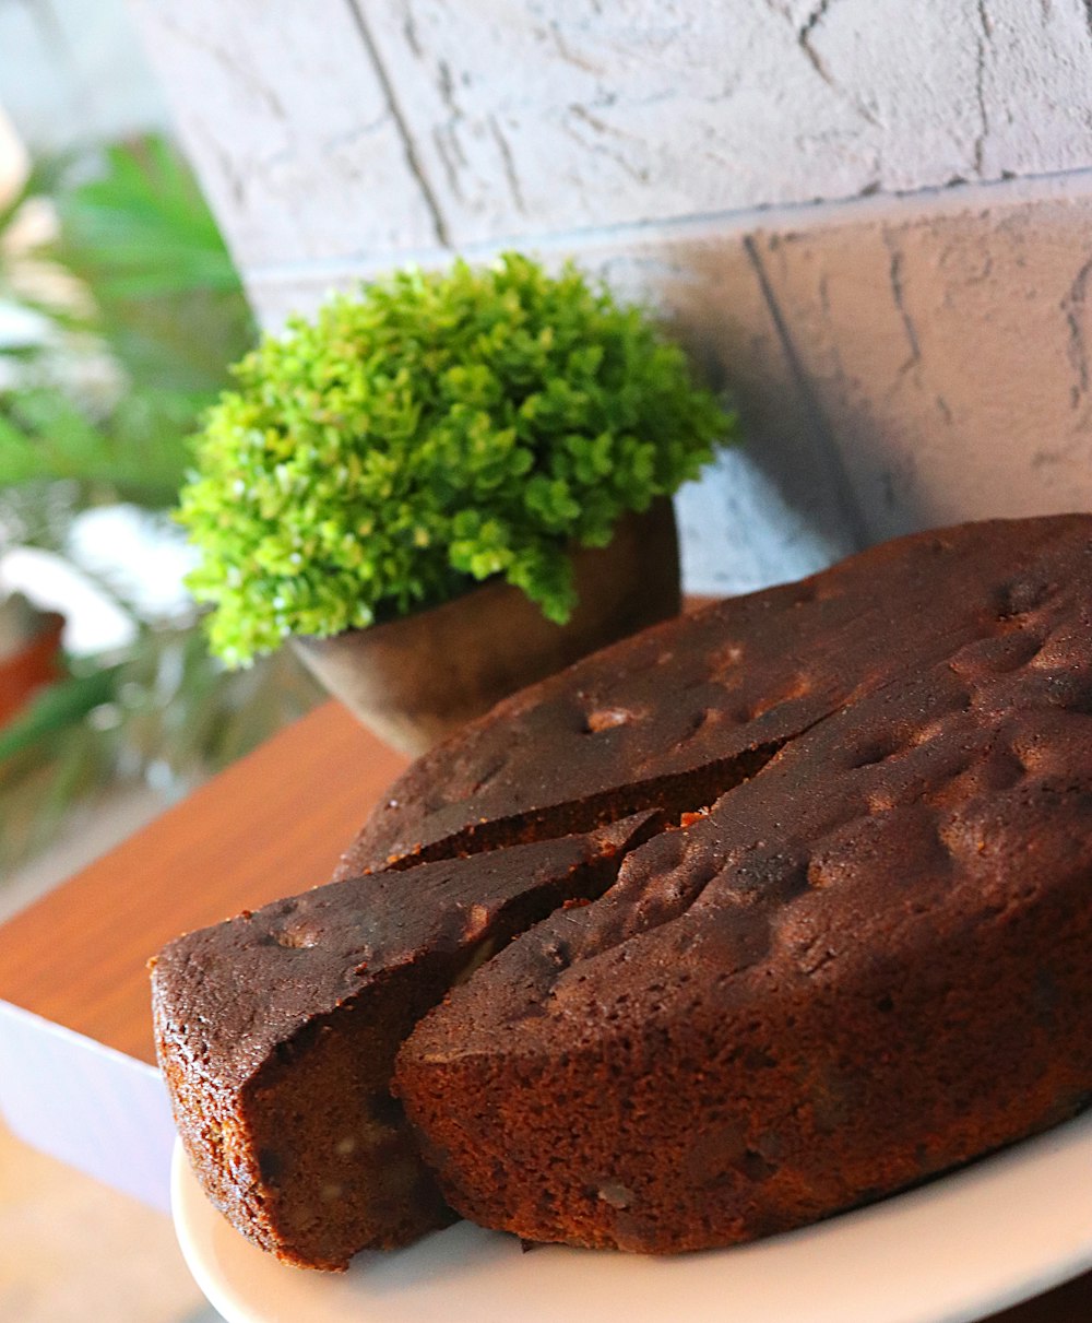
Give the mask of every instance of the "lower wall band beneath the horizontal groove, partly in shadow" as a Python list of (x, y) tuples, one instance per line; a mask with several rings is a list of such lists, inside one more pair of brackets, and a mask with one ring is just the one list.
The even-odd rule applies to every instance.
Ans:
[[(740, 410), (744, 451), (678, 500), (689, 591), (748, 591), (917, 528), (1092, 508), (1084, 176), (607, 233), (578, 258), (666, 318)], [(254, 294), (278, 324), (346, 283)]]

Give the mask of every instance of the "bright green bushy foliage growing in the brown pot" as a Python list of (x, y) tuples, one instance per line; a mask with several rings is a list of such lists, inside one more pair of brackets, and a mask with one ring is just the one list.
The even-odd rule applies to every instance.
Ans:
[(572, 545), (605, 545), (735, 425), (640, 310), (512, 253), (337, 296), (235, 380), (178, 513), (230, 664), (494, 574), (563, 622)]

